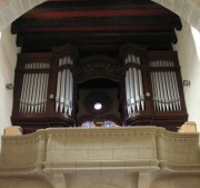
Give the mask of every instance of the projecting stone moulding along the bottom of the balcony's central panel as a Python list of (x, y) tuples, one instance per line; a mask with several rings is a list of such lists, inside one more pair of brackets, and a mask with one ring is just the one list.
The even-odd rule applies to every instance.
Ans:
[(140, 170), (156, 171), (159, 170), (159, 161), (149, 160), (94, 160), (94, 161), (68, 161), (68, 162), (46, 162), (43, 171), (51, 174), (54, 171), (61, 171), (66, 174), (77, 174), (86, 171), (123, 171), (134, 172)]

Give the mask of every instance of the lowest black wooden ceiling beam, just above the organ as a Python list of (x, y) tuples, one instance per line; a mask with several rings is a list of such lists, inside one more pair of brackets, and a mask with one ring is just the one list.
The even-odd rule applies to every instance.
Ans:
[(17, 37), (17, 46), (59, 46), (64, 43), (72, 44), (92, 44), (109, 46), (123, 44), (127, 42), (136, 42), (140, 44), (169, 43), (171, 40), (176, 42), (176, 34), (172, 31), (166, 32), (21, 32)]

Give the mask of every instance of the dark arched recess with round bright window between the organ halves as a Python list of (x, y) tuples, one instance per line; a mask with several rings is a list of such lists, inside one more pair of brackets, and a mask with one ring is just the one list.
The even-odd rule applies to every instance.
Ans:
[[(87, 120), (97, 126), (103, 125), (106, 120), (121, 125), (120, 61), (104, 55), (94, 55), (81, 59), (76, 66), (79, 93), (77, 126), (81, 126)], [(101, 105), (98, 110), (94, 109), (97, 103)]]

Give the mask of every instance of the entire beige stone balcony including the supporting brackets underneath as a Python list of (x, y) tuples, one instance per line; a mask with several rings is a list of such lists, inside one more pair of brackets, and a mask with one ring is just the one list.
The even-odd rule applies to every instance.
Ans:
[(0, 182), (10, 188), (12, 179), (31, 177), (30, 181), (38, 178), (40, 185), (56, 188), (181, 188), (180, 179), (190, 174), (196, 186), (199, 139), (199, 133), (157, 127), (54, 128), (7, 136), (2, 137)]

